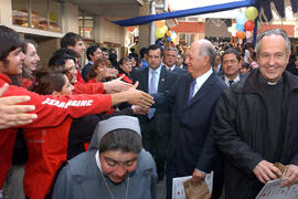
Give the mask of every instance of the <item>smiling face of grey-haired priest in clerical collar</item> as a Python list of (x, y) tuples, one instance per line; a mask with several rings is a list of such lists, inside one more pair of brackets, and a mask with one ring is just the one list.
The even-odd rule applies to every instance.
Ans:
[(259, 43), (257, 61), (260, 74), (268, 82), (277, 82), (287, 67), (289, 53), (281, 35), (265, 35)]

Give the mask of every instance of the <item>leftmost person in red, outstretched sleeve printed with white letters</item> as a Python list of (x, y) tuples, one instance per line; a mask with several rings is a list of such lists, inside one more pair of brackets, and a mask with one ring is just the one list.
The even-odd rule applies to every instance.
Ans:
[[(24, 54), (21, 50), (23, 40), (10, 28), (0, 25), (0, 86), (11, 80), (8, 75), (20, 75)], [(115, 94), (97, 95), (38, 95), (26, 88), (10, 85), (3, 96), (28, 95), (30, 101), (22, 103), (34, 105), (31, 113), (36, 114), (36, 118), (23, 126), (24, 128), (39, 128), (44, 126), (56, 126), (64, 122), (67, 116), (82, 117), (84, 115), (96, 114), (108, 111), (113, 105), (124, 102), (137, 104), (149, 108), (152, 105), (152, 97), (141, 91), (136, 90), (138, 84), (128, 91)], [(7, 172), (11, 165), (12, 149), (15, 140), (15, 129), (0, 130), (0, 190), (6, 180)]]

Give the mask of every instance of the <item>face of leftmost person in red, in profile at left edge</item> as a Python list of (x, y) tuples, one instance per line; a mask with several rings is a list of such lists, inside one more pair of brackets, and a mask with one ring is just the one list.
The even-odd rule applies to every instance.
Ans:
[(21, 48), (11, 51), (7, 56), (7, 63), (0, 61), (0, 73), (6, 75), (19, 75), (22, 73), (24, 53)]

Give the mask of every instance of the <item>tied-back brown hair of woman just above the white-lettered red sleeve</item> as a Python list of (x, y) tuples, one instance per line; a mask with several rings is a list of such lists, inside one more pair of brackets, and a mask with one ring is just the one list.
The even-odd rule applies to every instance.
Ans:
[(60, 71), (52, 71), (49, 67), (40, 67), (34, 71), (35, 80), (30, 91), (40, 95), (51, 95), (52, 92), (61, 92), (64, 84), (66, 71), (61, 67)]

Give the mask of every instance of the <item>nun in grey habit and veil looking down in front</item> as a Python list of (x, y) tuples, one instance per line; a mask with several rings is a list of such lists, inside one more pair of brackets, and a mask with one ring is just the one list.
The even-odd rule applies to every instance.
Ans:
[(98, 123), (87, 153), (61, 170), (53, 199), (155, 199), (157, 172), (136, 117)]

